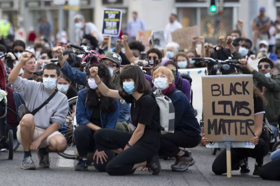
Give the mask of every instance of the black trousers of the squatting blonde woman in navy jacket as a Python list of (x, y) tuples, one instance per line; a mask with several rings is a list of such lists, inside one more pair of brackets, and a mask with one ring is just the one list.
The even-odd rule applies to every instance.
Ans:
[(179, 147), (194, 148), (201, 141), (201, 136), (188, 136), (183, 131), (174, 131), (161, 135), (161, 148), (158, 155), (161, 157), (174, 157), (180, 152)]

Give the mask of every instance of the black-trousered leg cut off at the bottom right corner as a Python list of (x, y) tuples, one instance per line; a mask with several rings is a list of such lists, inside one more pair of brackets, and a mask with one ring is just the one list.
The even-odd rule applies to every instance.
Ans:
[(262, 179), (280, 180), (280, 158), (262, 166), (259, 176)]

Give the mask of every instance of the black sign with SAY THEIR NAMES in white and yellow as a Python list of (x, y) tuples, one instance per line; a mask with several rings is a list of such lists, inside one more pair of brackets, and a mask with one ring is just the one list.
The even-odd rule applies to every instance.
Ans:
[(122, 11), (119, 9), (103, 10), (102, 34), (104, 36), (119, 36), (122, 25)]

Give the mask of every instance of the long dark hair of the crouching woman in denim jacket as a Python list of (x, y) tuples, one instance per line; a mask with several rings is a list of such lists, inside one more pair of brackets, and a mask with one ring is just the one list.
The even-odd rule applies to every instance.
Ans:
[[(90, 76), (90, 71), (89, 69), (91, 67), (98, 67), (98, 76), (100, 79), (102, 79), (102, 82), (109, 88), (109, 89), (115, 89), (115, 86), (111, 82), (111, 76), (109, 69), (106, 67), (105, 64), (100, 64), (100, 63), (92, 63), (90, 64), (87, 69), (86, 69), (86, 74)], [(96, 91), (91, 89), (86, 82), (86, 100), (85, 100), (85, 105), (88, 106), (89, 108), (93, 108), (94, 106), (98, 105), (99, 99), (100, 99), (100, 105), (99, 108), (102, 111), (107, 111), (107, 112), (112, 112), (115, 110), (115, 104), (116, 101), (114, 98), (110, 97), (105, 97), (101, 95), (99, 98), (96, 94)]]

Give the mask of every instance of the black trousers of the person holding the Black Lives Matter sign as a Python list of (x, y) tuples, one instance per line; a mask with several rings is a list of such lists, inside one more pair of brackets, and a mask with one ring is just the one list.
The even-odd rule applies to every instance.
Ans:
[[(259, 165), (263, 164), (264, 156), (269, 150), (268, 142), (265, 139), (259, 138), (259, 143), (255, 148), (231, 148), (231, 170), (239, 170), (240, 160), (246, 157), (256, 159)], [(216, 175), (226, 173), (226, 149), (224, 149), (214, 160), (212, 171)]]

